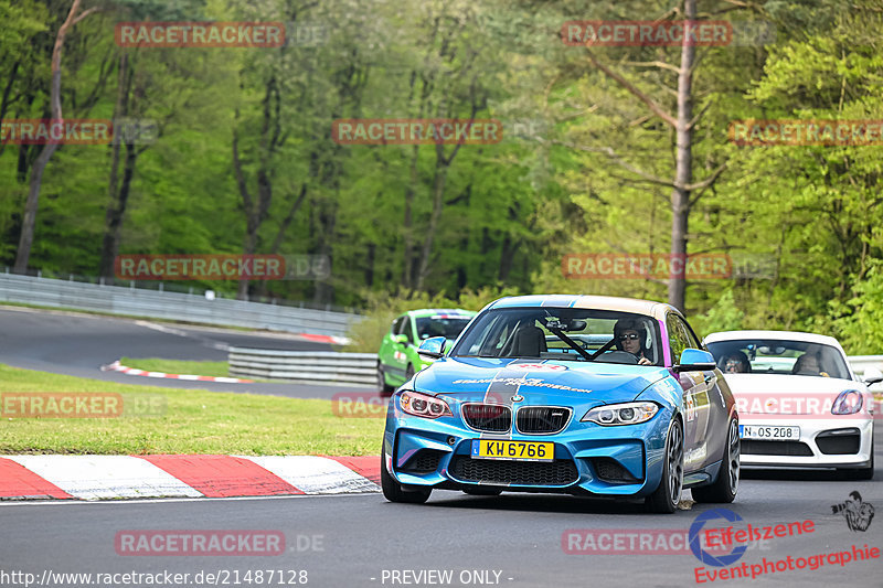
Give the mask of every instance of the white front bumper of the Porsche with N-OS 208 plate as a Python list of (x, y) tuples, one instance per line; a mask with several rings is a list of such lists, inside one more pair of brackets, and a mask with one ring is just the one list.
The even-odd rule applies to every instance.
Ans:
[(849, 416), (801, 418), (800, 416), (742, 415), (742, 425), (797, 426), (794, 441), (742, 440), (742, 466), (796, 468), (863, 468), (871, 464), (873, 420)]

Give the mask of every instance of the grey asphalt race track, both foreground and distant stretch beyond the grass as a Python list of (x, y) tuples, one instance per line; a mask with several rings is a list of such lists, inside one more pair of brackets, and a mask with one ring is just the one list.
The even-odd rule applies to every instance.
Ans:
[[(217, 345), (316, 349), (292, 339), (179, 328), (183, 334), (130, 320), (79, 314), (0, 310), (0, 362), (125, 383), (204, 387), (330, 397), (332, 386), (288, 384), (232, 385), (139, 378), (98, 371), (120, 355), (222, 360)], [(879, 429), (877, 423), (877, 429)], [(883, 431), (875, 435), (881, 455)], [(647, 514), (637, 503), (545, 494), (467, 496), (437, 491), (425, 505), (392, 504), (380, 494), (286, 496), (269, 499), (187, 499), (104, 502), (0, 502), (0, 586), (510, 586), (530, 587), (685, 587), (685, 586), (849, 586), (881, 587), (881, 559), (847, 562), (868, 546), (883, 549), (877, 514), (864, 531), (851, 531), (832, 506), (858, 491), (865, 504), (883, 509), (880, 459), (875, 481), (850, 481), (833, 472), (743, 471), (736, 502), (726, 507), (742, 517), (736, 528), (811, 521), (811, 532), (755, 542), (724, 567), (703, 564), (682, 545), (708, 504), (683, 503), (673, 515)], [(684, 493), (689, 499), (689, 492)], [(865, 511), (868, 512), (868, 511)], [(706, 528), (724, 527), (713, 518)], [(806, 524), (805, 524), (806, 527)], [(222, 533), (278, 532), (279, 555), (128, 555), (119, 536), (142, 531), (182, 535), (195, 530)], [(593, 546), (572, 543), (574, 530), (607, 532)], [(679, 553), (630, 548), (628, 536), (653, 537), (678, 531)], [(615, 534), (615, 535), (614, 535)], [(640, 534), (640, 535), (638, 535)], [(582, 535), (577, 535), (582, 536)], [(618, 536), (619, 543), (613, 537)], [(121, 539), (120, 539), (121, 541)], [(606, 544), (603, 542), (607, 542)], [(641, 539), (642, 541), (642, 539)], [(656, 541), (656, 539), (653, 539)], [(242, 545), (242, 544), (240, 544)], [(246, 543), (247, 545), (247, 543)], [(584, 553), (568, 554), (576, 546)], [(669, 544), (674, 547), (675, 543)], [(600, 553), (604, 548), (613, 553)], [(172, 547), (169, 547), (172, 549)], [(880, 552), (877, 550), (877, 556)], [(836, 554), (836, 555), (831, 555)], [(819, 566), (819, 556), (823, 564)], [(791, 565), (817, 569), (788, 569)], [(812, 558), (812, 559), (809, 559)], [(764, 560), (769, 564), (764, 566)], [(783, 570), (775, 569), (777, 562)], [(841, 565), (842, 563), (842, 565)], [(748, 577), (709, 579), (712, 573), (740, 568)], [(772, 566), (772, 567), (770, 567)], [(753, 570), (758, 570), (752, 579)], [(258, 570), (262, 571), (258, 580)], [(306, 570), (306, 575), (301, 574)], [(766, 570), (764, 573), (763, 570)], [(126, 574), (164, 574), (148, 582)], [(273, 575), (270, 576), (270, 571)], [(118, 574), (113, 581), (93, 576)], [(6, 576), (4, 576), (6, 574)], [(33, 574), (33, 576), (25, 576)], [(180, 574), (175, 580), (174, 575)], [(188, 574), (189, 576), (183, 576)], [(698, 581), (698, 574), (699, 580)], [(152, 577), (152, 576), (151, 576)], [(180, 581), (179, 581), (180, 580)], [(304, 581), (306, 580), (306, 581)], [(30, 587), (29, 587), (30, 588)]]

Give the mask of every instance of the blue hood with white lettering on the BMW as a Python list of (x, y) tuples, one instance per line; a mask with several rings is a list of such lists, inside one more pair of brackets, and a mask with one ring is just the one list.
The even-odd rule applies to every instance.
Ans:
[[(664, 367), (591, 362), (445, 357), (419, 372), (417, 392), (480, 399), (518, 393), (529, 404), (554, 397), (585, 403), (628, 402), (668, 376)], [(503, 400), (504, 402), (504, 400)]]

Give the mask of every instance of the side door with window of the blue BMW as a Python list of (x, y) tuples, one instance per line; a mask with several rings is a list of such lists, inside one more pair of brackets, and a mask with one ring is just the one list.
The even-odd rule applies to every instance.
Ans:
[[(702, 349), (684, 320), (674, 312), (666, 318), (673, 364), (680, 363), (685, 349)], [(711, 374), (711, 376), (708, 376)], [(684, 472), (702, 469), (708, 457), (709, 387), (714, 372), (681, 372), (678, 379), (683, 388), (684, 417)]]

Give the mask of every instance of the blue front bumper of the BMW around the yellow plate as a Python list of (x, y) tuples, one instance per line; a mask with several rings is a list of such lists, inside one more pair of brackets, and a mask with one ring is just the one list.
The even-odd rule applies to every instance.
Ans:
[[(387, 471), (405, 487), (641, 498), (661, 480), (672, 417), (664, 408), (647, 423), (617, 427), (581, 423), (585, 410), (575, 408), (561, 432), (491, 435), (467, 427), (456, 402), (449, 403), (454, 416), (427, 419), (403, 413), (397, 400), (395, 395), (387, 413), (384, 455)], [(471, 441), (479, 438), (553, 442), (555, 460), (474, 459)]]

